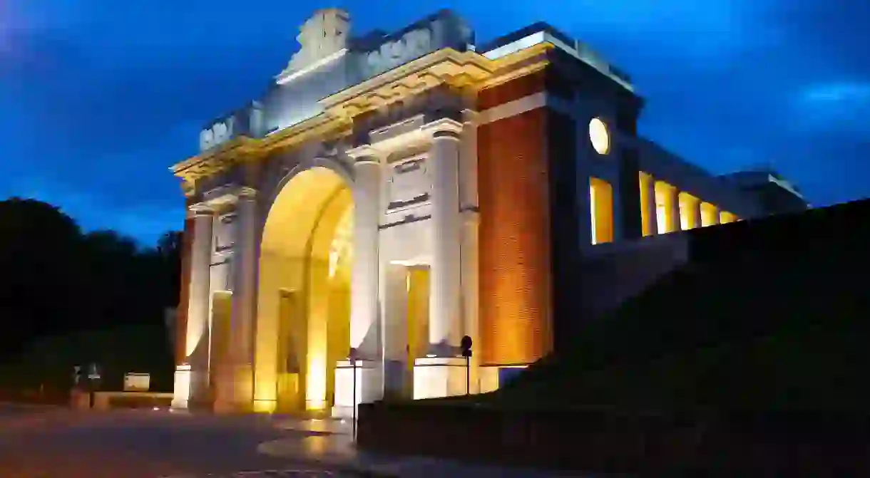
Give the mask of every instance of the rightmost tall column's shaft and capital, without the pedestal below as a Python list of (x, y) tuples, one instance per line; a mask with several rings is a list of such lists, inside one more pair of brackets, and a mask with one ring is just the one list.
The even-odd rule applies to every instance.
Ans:
[(429, 302), (429, 355), (454, 356), (462, 337), (459, 151), (462, 123), (441, 119), (427, 127), (432, 147), (432, 265)]

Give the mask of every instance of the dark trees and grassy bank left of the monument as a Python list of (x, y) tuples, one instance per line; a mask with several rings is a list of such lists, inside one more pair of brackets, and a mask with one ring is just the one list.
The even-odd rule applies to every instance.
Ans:
[(143, 248), (44, 202), (0, 202), (0, 385), (59, 384), (88, 360), (171, 368), (179, 247), (177, 232)]

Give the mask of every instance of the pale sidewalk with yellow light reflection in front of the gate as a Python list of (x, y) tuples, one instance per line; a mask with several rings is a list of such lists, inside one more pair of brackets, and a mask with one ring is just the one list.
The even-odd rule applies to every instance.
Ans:
[(261, 443), (257, 450), (264, 455), (318, 461), (348, 471), (371, 476), (415, 478), (564, 478), (568, 476), (594, 478), (534, 468), (507, 468), (478, 465), (424, 456), (386, 456), (360, 451), (351, 440), (350, 423), (334, 420), (275, 421), (277, 428), (311, 435), (288, 437)]

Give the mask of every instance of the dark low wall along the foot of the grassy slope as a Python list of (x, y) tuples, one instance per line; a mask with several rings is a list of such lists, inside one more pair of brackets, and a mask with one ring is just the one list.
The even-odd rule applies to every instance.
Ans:
[(358, 446), (502, 465), (660, 474), (870, 475), (867, 417), (733, 415), (704, 421), (606, 410), (509, 413), (360, 405)]

